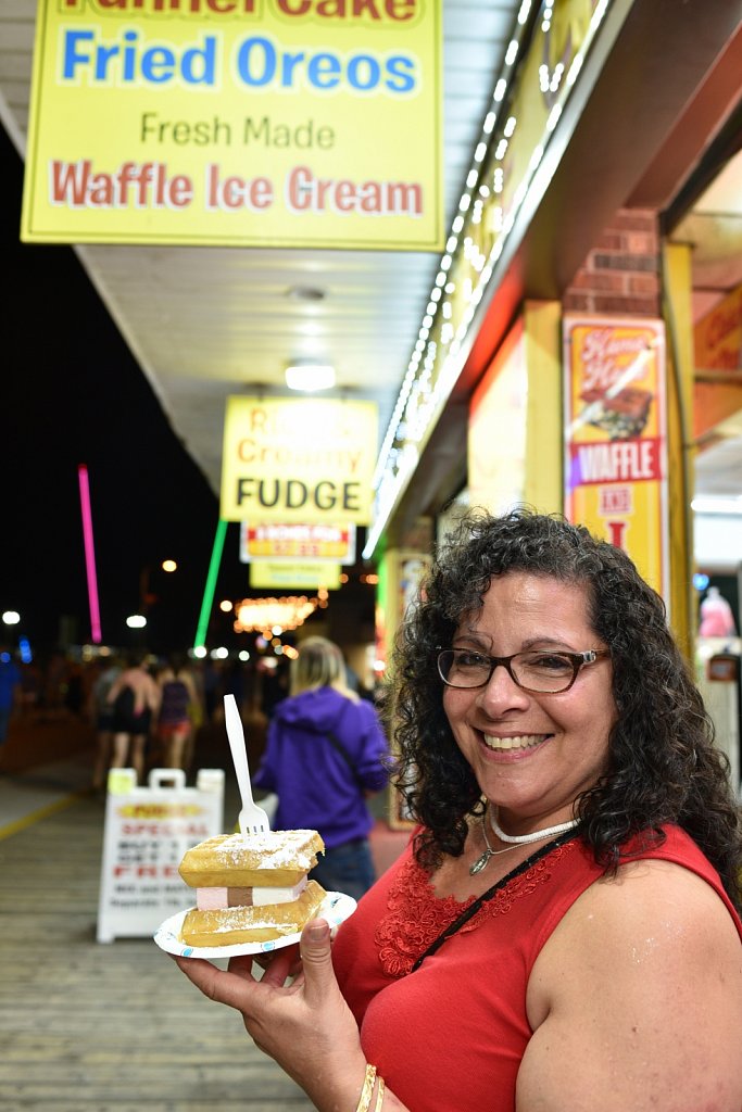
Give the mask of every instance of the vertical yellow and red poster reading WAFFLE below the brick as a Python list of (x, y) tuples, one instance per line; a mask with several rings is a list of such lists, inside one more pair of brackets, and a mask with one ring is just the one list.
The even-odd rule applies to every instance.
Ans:
[(565, 515), (623, 548), (669, 600), (661, 320), (564, 318)]

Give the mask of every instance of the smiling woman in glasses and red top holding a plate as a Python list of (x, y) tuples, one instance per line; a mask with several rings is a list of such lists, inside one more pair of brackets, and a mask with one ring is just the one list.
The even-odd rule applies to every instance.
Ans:
[(421, 825), (332, 966), (315, 923), (298, 991), (286, 957), (261, 984), (180, 960), (188, 976), (323, 1112), (739, 1112), (739, 816), (625, 553), (469, 515), (409, 610), (388, 705)]

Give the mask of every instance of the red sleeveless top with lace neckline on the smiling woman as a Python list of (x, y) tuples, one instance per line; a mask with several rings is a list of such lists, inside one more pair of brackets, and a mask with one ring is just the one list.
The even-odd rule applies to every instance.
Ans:
[[(642, 857), (691, 868), (742, 923), (719, 876), (677, 827)], [(501, 888), (410, 973), (416, 959), (474, 902), (437, 897), (410, 848), (340, 927), (335, 971), (360, 1040), (412, 1112), (513, 1112), (531, 1037), (525, 996), (533, 964), (574, 901), (602, 873), (575, 838)]]

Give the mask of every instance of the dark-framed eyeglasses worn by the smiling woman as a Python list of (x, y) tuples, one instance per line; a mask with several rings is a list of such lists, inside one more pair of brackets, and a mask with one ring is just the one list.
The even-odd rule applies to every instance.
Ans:
[(438, 672), (449, 687), (484, 687), (502, 664), (513, 683), (524, 692), (558, 695), (568, 692), (577, 673), (598, 656), (610, 656), (605, 648), (584, 653), (551, 653), (544, 649), (514, 653), (512, 656), (486, 656), (472, 648), (444, 648), (438, 653)]

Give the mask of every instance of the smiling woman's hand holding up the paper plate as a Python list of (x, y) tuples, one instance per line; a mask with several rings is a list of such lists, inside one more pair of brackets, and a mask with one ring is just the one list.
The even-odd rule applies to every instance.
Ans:
[(175, 961), (209, 1000), (236, 1009), (256, 1045), (299, 1084), (323, 1112), (354, 1108), (366, 1059), (358, 1027), (335, 979), (329, 925), (313, 920), (301, 932), (301, 969), (293, 947), (278, 950), (260, 980), (250, 956), (227, 971), (200, 957)]

